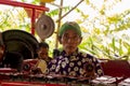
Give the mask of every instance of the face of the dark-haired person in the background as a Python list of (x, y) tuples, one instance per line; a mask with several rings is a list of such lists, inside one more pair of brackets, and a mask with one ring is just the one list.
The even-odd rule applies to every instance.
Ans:
[(48, 52), (49, 52), (48, 48), (40, 47), (40, 49), (38, 51), (38, 57), (41, 59), (47, 59), (49, 57)]

